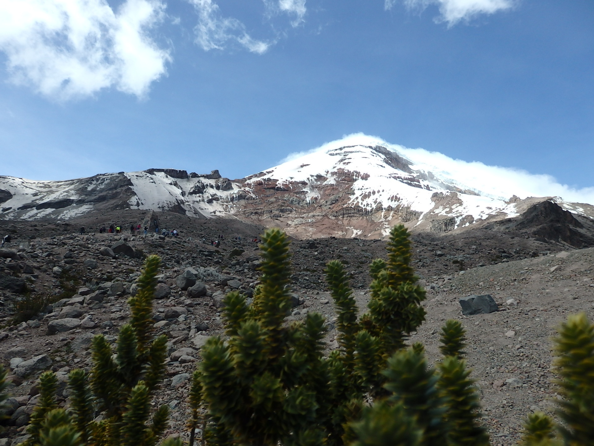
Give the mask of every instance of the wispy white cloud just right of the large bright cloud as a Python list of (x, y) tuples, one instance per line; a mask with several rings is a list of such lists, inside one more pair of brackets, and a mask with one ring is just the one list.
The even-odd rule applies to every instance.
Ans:
[(222, 17), (219, 5), (213, 0), (189, 0), (198, 14), (198, 24), (195, 27), (196, 43), (204, 51), (224, 49), (229, 40), (235, 40), (248, 51), (263, 54), (270, 47), (270, 43), (253, 39), (245, 31), (245, 25), (233, 17)]

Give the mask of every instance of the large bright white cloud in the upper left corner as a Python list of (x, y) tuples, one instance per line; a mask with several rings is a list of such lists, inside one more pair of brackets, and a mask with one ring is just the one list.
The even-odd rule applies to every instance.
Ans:
[(147, 30), (163, 18), (159, 0), (2, 0), (0, 51), (11, 80), (58, 99), (116, 89), (144, 96), (165, 74), (169, 52)]

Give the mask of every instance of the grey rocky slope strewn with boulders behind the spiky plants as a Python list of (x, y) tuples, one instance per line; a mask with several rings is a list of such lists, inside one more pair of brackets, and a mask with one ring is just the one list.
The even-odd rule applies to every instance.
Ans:
[[(181, 217), (163, 215), (162, 225), (180, 228), (176, 218)], [(166, 403), (172, 409), (167, 435), (186, 435), (189, 375), (207, 337), (222, 333), (220, 303), (225, 293), (239, 289), (249, 296), (258, 284), (258, 247), (251, 239), (261, 228), (203, 221), (193, 227), (187, 224), (178, 238), (152, 233), (146, 238), (80, 235), (55, 224), (39, 226), (38, 231), (30, 226), (15, 228), (13, 241), (0, 251), (4, 267), (0, 271), (0, 357), (11, 370), (12, 383), (11, 426), (2, 434), (0, 445), (24, 439), (23, 430), (36, 403), (36, 379), (43, 370), (58, 373), (63, 383), (61, 401), (67, 404), (69, 370), (90, 365), (94, 334), (115, 341), (119, 326), (127, 321), (127, 299), (135, 292), (134, 282), (147, 254), (163, 259), (154, 328), (156, 334), (164, 332), (170, 339), (167, 378), (157, 404)], [(31, 237), (32, 233), (37, 235)], [(219, 235), (223, 235), (222, 244), (215, 248), (209, 243), (220, 240)], [(469, 338), (467, 358), (481, 388), (484, 421), (495, 445), (514, 444), (526, 414), (537, 408), (549, 411), (551, 400), (557, 398), (549, 351), (554, 326), (568, 313), (586, 311), (590, 319), (594, 316), (594, 249), (561, 250), (560, 245), (536, 243), (517, 238), (417, 238), (413, 243), (414, 264), (427, 289), (427, 316), (412, 340), (425, 343), (429, 357), (438, 359), (441, 325), (448, 318), (462, 320)], [(296, 240), (292, 253), (293, 310), (287, 320), (299, 320), (308, 311), (325, 315), (330, 351), (337, 343), (323, 267), (327, 260), (343, 260), (364, 311), (367, 265), (384, 256), (384, 243)], [(466, 271), (458, 271), (460, 260)], [(469, 294), (491, 294), (500, 310), (463, 316), (459, 299)], [(38, 315), (27, 317), (26, 309), (15, 307), (27, 296), (43, 303)], [(15, 317), (23, 321), (14, 325)]]

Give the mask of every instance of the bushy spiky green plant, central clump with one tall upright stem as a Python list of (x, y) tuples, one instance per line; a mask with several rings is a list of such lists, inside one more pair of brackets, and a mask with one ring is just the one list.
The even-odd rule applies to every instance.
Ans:
[(212, 337), (202, 348), (199, 379), (209, 444), (311, 442), (321, 438), (318, 426), (326, 423), (317, 412), (327, 404), (324, 319), (308, 313), (302, 323), (283, 323), (290, 310), (289, 240), (277, 229), (262, 240), (261, 284), (253, 303), (229, 293), (223, 313), (229, 340)]

